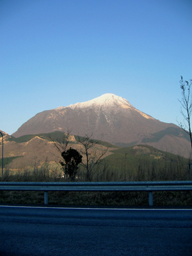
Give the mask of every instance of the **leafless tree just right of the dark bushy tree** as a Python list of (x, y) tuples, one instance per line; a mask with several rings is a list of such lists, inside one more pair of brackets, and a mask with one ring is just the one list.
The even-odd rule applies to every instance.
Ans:
[(108, 152), (108, 147), (104, 148), (102, 152), (98, 155), (96, 150), (93, 149), (95, 145), (100, 145), (99, 140), (93, 140), (92, 135), (85, 134), (84, 137), (78, 136), (78, 141), (82, 146), (80, 150), (81, 154), (85, 156), (85, 160), (82, 161), (82, 165), (86, 169), (86, 180), (91, 180), (91, 173), (96, 164), (99, 164), (102, 161), (102, 157)]

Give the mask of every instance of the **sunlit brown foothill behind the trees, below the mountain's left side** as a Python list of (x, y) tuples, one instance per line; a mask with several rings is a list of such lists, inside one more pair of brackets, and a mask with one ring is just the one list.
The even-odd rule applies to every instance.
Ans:
[[(54, 146), (52, 140), (62, 141), (63, 132), (51, 132), (48, 134), (24, 135), (14, 138), (8, 134), (4, 135), (4, 164), (8, 164), (8, 168), (21, 170), (24, 168), (34, 168), (41, 166), (43, 163), (59, 163), (62, 159), (60, 152)], [(105, 156), (109, 156), (111, 150), (119, 148), (113, 146), (106, 141), (99, 141), (99, 145), (95, 145), (93, 150), (100, 155), (104, 149), (108, 148)], [(71, 135), (69, 147), (81, 151), (82, 145), (78, 142), (77, 136)], [(2, 140), (0, 138), (0, 152), (2, 149)], [(1, 159), (0, 159), (1, 161)], [(60, 168), (60, 165), (58, 165)]]

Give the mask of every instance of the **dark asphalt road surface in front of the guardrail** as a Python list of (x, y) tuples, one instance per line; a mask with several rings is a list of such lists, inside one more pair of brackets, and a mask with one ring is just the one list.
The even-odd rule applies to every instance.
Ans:
[(0, 206), (0, 255), (192, 255), (192, 211)]

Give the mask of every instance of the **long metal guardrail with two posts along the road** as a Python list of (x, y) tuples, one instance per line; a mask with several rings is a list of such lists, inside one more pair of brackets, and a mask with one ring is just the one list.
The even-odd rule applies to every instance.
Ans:
[(48, 191), (148, 191), (148, 204), (152, 206), (153, 191), (192, 191), (192, 180), (151, 182), (0, 182), (0, 190), (44, 191), (44, 204), (48, 204)]

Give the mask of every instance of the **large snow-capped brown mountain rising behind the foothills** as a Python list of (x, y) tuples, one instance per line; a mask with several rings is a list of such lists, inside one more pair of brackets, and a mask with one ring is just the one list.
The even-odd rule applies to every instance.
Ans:
[(189, 140), (177, 125), (160, 122), (134, 108), (128, 100), (111, 93), (38, 113), (12, 136), (66, 132), (68, 129), (72, 134), (93, 134), (97, 140), (120, 146), (147, 144), (189, 157)]

